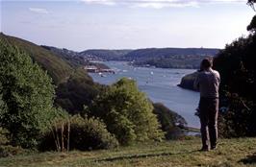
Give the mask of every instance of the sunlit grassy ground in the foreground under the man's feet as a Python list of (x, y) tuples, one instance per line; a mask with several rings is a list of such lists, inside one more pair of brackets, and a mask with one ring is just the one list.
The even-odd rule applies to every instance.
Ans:
[(221, 139), (216, 151), (199, 149), (196, 138), (108, 151), (16, 155), (0, 158), (0, 166), (256, 166), (256, 138)]

